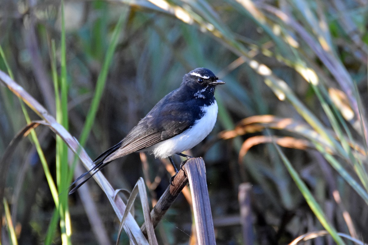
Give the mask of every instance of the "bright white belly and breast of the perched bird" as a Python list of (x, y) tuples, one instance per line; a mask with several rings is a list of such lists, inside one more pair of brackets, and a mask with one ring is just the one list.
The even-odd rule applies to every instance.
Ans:
[(216, 123), (217, 111), (216, 101), (210, 106), (202, 107), (204, 115), (195, 122), (194, 126), (168, 140), (152, 145), (149, 149), (156, 158), (167, 158), (177, 152), (193, 148), (212, 131)]

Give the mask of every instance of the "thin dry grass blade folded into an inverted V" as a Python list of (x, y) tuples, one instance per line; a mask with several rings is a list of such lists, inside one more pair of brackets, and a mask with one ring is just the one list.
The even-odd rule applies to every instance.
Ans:
[(146, 187), (144, 185), (144, 181), (143, 181), (142, 177), (140, 177), (138, 179), (137, 183), (135, 184), (135, 186), (132, 190), (132, 193), (130, 194), (130, 197), (128, 199), (127, 208), (125, 209), (123, 219), (121, 220), (121, 223), (120, 223), (120, 226), (119, 226), (116, 245), (119, 244), (121, 230), (123, 229), (123, 225), (125, 223), (125, 220), (126, 220), (128, 214), (129, 214), (130, 209), (133, 206), (133, 203), (135, 201), (135, 198), (137, 197), (138, 192), (139, 192), (139, 197), (141, 198), (141, 204), (142, 204), (143, 215), (144, 215), (144, 223), (146, 224), (146, 227), (148, 227), (147, 235), (148, 235), (149, 244), (158, 244), (156, 236), (155, 236), (155, 231), (153, 231), (151, 215), (149, 213), (149, 204), (148, 204), (148, 197), (147, 197), (147, 193), (146, 193)]

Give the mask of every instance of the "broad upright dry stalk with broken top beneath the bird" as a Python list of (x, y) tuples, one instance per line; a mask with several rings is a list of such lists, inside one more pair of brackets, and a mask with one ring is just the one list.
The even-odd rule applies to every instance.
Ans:
[(205, 162), (202, 158), (191, 158), (183, 168), (188, 176), (191, 188), (198, 244), (216, 244), (206, 182)]

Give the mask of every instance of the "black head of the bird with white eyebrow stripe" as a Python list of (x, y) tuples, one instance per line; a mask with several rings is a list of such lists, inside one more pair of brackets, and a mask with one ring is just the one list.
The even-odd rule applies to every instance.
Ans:
[(212, 71), (206, 68), (196, 68), (184, 75), (181, 86), (191, 91), (196, 98), (210, 99), (215, 93), (216, 85), (219, 84), (224, 84), (224, 82), (219, 80)]

